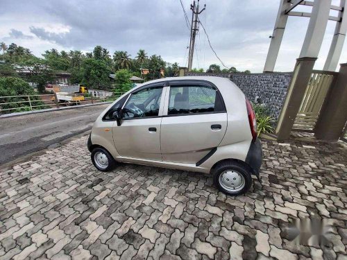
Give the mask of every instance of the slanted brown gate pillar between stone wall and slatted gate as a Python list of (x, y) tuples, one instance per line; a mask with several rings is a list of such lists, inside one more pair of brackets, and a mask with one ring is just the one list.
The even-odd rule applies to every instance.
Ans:
[(282, 106), (278, 123), (276, 127), (276, 135), (278, 140), (289, 139), (291, 129), (293, 128), (296, 114), (300, 108), (301, 102), (309, 80), (311, 78), (314, 62), (317, 58), (298, 58), (296, 60), (293, 77), (289, 84), (285, 103)]

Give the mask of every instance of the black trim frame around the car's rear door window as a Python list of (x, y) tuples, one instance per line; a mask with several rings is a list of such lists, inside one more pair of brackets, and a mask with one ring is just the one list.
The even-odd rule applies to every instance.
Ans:
[[(220, 111), (213, 111), (213, 112), (201, 112), (201, 113), (190, 113), (190, 114), (166, 114), (163, 115), (162, 117), (170, 117), (170, 116), (198, 116), (200, 114), (221, 114), (221, 113), (226, 113), (226, 103), (224, 103), (223, 96), (221, 96), (221, 92), (219, 91), (218, 87), (211, 83), (208, 80), (170, 80), (169, 81), (169, 87), (189, 87), (189, 86), (195, 86), (200, 85), (203, 87), (212, 87), (213, 89), (216, 90), (216, 95), (219, 96), (219, 100), (221, 101), (222, 105), (222, 110)], [(170, 92), (169, 92), (170, 95)], [(167, 103), (167, 112), (169, 113), (169, 103)]]

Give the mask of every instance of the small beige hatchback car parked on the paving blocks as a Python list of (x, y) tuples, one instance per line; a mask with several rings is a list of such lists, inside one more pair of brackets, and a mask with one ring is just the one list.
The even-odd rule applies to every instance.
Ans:
[(88, 149), (100, 171), (117, 162), (212, 174), (224, 193), (259, 179), (262, 146), (244, 93), (219, 77), (162, 78), (131, 89), (98, 119)]

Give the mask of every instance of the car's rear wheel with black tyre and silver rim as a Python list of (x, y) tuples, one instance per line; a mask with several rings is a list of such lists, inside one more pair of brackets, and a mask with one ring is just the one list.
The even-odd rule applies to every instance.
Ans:
[(249, 167), (240, 162), (221, 162), (212, 174), (214, 185), (228, 195), (244, 194), (252, 185)]

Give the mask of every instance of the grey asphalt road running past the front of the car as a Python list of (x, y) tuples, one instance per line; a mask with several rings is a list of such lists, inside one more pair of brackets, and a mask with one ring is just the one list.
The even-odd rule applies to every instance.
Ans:
[(90, 130), (108, 105), (0, 119), (0, 165)]

